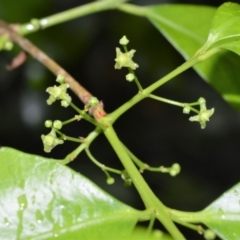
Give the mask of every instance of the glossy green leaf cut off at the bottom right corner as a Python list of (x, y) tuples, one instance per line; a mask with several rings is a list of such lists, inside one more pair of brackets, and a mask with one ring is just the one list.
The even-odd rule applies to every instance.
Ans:
[(221, 239), (240, 239), (240, 183), (225, 192), (202, 212), (202, 222)]

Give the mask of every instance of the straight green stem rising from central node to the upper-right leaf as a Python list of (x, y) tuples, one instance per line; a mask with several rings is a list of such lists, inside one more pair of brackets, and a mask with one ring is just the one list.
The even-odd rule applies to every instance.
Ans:
[(162, 86), (163, 84), (165, 84), (166, 82), (171, 80), (172, 78), (176, 77), (177, 75), (186, 71), (187, 69), (191, 68), (192, 66), (194, 66), (197, 63), (199, 63), (199, 59), (197, 57), (191, 58), (188, 61), (184, 62), (181, 66), (174, 69), (172, 72), (165, 75), (163, 78), (159, 79), (158, 81), (156, 81), (149, 87), (145, 88), (144, 90), (142, 90), (141, 92), (136, 94), (132, 99), (130, 99), (129, 101), (124, 103), (122, 106), (120, 106), (118, 109), (116, 109), (114, 112), (109, 114), (110, 115), (109, 117), (111, 118), (111, 120), (113, 122), (116, 121), (124, 112), (126, 112), (128, 109), (130, 109), (136, 103), (140, 102), (141, 100), (143, 100), (146, 97), (149, 97), (149, 95), (154, 90), (156, 90), (157, 88), (159, 88), (160, 86)]

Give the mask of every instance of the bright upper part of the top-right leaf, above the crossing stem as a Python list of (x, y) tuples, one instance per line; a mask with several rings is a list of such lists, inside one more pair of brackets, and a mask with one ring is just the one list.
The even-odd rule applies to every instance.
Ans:
[(147, 7), (147, 16), (155, 27), (185, 57), (203, 46), (208, 37), (216, 8), (187, 4)]

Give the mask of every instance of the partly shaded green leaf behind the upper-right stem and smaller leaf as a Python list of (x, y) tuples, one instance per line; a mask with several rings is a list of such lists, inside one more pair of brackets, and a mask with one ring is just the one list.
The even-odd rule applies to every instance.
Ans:
[[(200, 5), (166, 4), (146, 8), (146, 16), (185, 59), (206, 42), (216, 8)], [(240, 110), (240, 58), (222, 51), (194, 69), (229, 103)]]

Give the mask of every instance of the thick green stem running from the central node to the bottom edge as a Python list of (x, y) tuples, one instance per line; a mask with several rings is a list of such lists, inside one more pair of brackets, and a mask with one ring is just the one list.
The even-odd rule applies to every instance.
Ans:
[(121, 160), (130, 178), (132, 179), (146, 208), (153, 209), (156, 218), (165, 226), (165, 228), (169, 231), (174, 239), (185, 239), (181, 232), (179, 232), (174, 223), (171, 221), (171, 218), (168, 215), (168, 212), (166, 211), (163, 203), (154, 195), (142, 175), (137, 170), (136, 166), (133, 164), (121, 141), (118, 139), (114, 129), (112, 127), (109, 127), (104, 131), (104, 134), (118, 155), (119, 159)]

